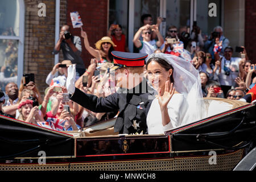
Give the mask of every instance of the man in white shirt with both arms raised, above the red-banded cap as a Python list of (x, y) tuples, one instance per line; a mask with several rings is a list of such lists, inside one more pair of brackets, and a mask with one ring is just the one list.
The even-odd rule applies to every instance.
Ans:
[[(151, 40), (152, 31), (156, 33), (156, 36), (158, 36), (158, 41)], [(142, 41), (139, 40), (140, 36), (143, 38)], [(139, 30), (136, 32), (133, 38), (133, 43), (137, 48), (139, 48), (140, 53), (147, 53), (150, 55), (164, 43), (164, 40), (157, 25), (150, 26), (149, 24), (146, 24), (145, 26), (139, 28)]]

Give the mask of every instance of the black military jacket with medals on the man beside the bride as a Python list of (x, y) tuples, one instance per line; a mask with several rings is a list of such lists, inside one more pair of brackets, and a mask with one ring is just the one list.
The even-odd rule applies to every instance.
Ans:
[[(72, 101), (93, 111), (94, 113), (108, 113), (119, 110), (114, 131), (120, 134), (143, 133), (147, 134), (147, 113), (152, 100), (155, 98), (146, 79), (133, 89), (122, 89), (121, 93), (114, 93), (108, 97), (85, 94), (79, 89), (70, 97)], [(134, 123), (135, 122), (135, 123)]]

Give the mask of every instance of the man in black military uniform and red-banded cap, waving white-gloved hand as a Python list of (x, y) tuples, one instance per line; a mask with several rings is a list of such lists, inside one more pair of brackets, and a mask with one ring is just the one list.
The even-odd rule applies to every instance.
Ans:
[(72, 65), (67, 78), (70, 99), (95, 113), (119, 110), (114, 125), (114, 131), (119, 134), (147, 134), (147, 111), (154, 98), (154, 90), (142, 76), (147, 54), (113, 51), (112, 55), (115, 72), (122, 73), (122, 91), (105, 98), (81, 92), (74, 86), (75, 65)]

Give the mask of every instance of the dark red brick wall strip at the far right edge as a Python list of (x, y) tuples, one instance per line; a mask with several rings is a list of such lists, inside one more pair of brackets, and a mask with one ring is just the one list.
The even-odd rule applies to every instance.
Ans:
[(245, 47), (249, 59), (256, 63), (256, 1), (245, 1)]

